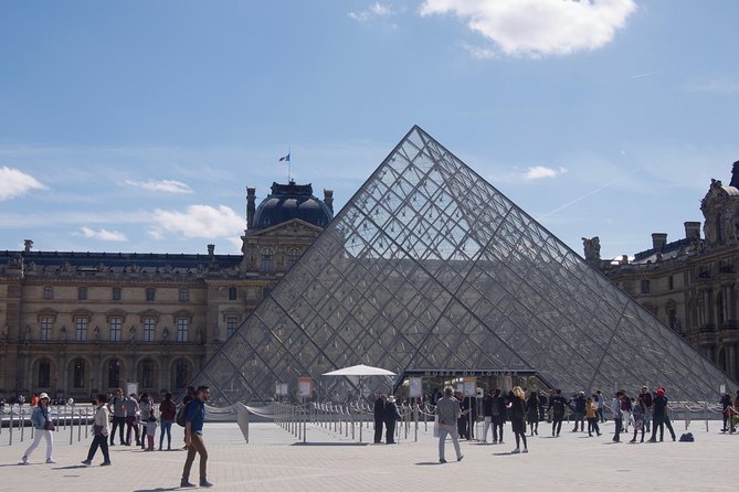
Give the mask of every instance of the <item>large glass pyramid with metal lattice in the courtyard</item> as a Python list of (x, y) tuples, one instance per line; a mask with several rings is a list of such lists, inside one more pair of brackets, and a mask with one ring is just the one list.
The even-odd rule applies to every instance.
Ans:
[[(205, 364), (215, 405), (367, 364), (536, 373), (563, 392), (715, 400), (733, 382), (413, 127)], [(400, 381), (400, 379), (398, 379)], [(378, 391), (382, 382), (369, 381)], [(346, 383), (342, 383), (346, 384)], [(356, 389), (356, 387), (355, 387)], [(372, 389), (372, 388), (371, 388)]]

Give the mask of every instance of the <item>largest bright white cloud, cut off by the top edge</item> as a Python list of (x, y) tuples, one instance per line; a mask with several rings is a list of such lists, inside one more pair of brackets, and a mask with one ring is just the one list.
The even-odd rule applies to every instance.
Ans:
[(420, 12), (455, 14), (496, 46), (473, 56), (538, 57), (602, 47), (634, 10), (634, 0), (424, 0)]

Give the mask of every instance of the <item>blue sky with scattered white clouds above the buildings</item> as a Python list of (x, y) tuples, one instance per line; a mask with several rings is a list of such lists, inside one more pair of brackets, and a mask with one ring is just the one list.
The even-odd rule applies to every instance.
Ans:
[(237, 254), (412, 125), (576, 252), (684, 236), (739, 160), (739, 2), (0, 2), (0, 249)]

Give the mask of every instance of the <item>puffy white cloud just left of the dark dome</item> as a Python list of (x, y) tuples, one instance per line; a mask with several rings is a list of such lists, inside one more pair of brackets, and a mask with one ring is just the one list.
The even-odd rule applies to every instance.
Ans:
[(150, 228), (148, 234), (155, 239), (165, 237), (167, 232), (184, 237), (231, 237), (246, 227), (245, 218), (225, 205), (218, 208), (190, 205), (186, 212), (157, 208), (151, 218), (156, 227)]

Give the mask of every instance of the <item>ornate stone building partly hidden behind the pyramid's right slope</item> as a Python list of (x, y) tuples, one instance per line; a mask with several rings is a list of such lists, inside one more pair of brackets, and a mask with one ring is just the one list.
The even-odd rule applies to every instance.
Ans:
[(711, 180), (700, 203), (703, 238), (701, 224), (686, 222), (684, 238), (667, 243), (666, 234), (654, 233), (652, 248), (633, 259), (588, 258), (733, 379), (739, 379), (738, 186), (739, 161), (728, 186)]

